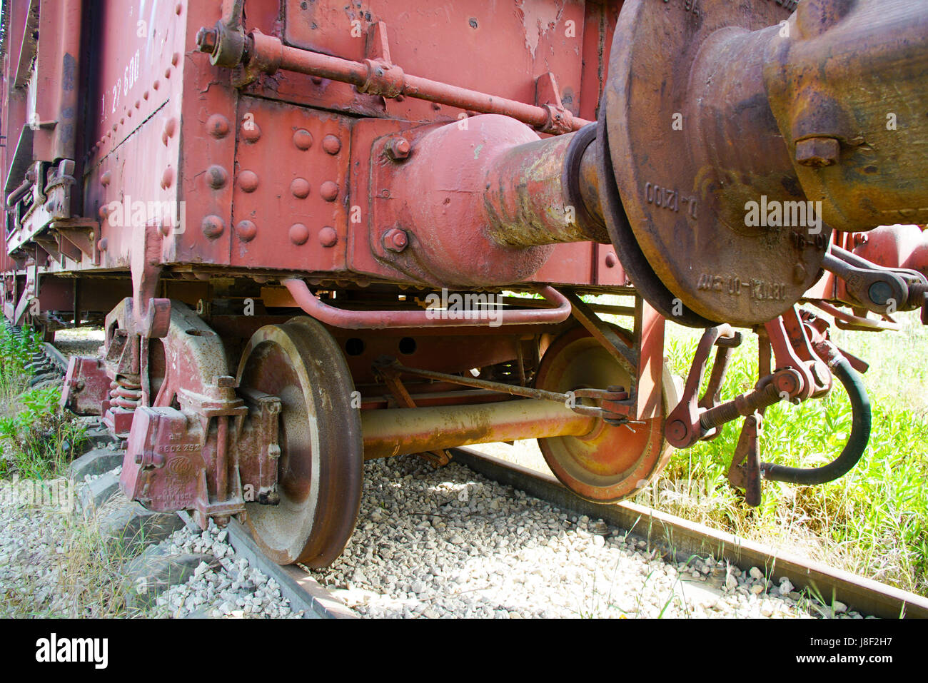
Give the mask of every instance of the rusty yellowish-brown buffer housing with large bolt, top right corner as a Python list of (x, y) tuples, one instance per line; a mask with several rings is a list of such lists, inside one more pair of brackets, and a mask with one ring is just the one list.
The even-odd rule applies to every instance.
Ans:
[[(809, 199), (839, 230), (928, 222), (928, 7), (803, 0), (767, 45), (770, 108)], [(853, 83), (853, 86), (849, 86)], [(805, 155), (805, 156), (804, 156)]]

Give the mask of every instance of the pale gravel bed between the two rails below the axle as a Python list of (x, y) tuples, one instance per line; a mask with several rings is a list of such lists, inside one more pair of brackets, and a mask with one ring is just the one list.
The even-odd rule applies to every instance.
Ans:
[(357, 529), (313, 573), (371, 617), (861, 618), (760, 568), (664, 561), (600, 520), (411, 457), (367, 463)]

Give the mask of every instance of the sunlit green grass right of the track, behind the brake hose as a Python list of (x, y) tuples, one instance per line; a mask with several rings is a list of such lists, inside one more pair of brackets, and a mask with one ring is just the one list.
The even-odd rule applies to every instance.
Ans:
[[(818, 560), (928, 595), (928, 419), (920, 363), (928, 332), (912, 316), (900, 317), (900, 332), (833, 335), (871, 363), (864, 375), (873, 409), (870, 445), (854, 470), (820, 486), (765, 482), (761, 505), (751, 509), (726, 477), (738, 420), (714, 441), (676, 451), (664, 470), (665, 480), (690, 480), (702, 498), (660, 496), (655, 507), (746, 537), (792, 542)], [(668, 327), (668, 364), (685, 377), (699, 332)], [(754, 386), (756, 354), (756, 337), (746, 335), (729, 367), (723, 400)], [(840, 384), (824, 399), (771, 406), (761, 456), (817, 467), (841, 452), (850, 425), (850, 403)]]

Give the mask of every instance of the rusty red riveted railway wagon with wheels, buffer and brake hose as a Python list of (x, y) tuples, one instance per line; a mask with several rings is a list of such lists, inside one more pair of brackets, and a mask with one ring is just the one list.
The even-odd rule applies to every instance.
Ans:
[[(830, 481), (870, 432), (831, 318), (924, 318), (922, 0), (3, 10), (4, 313), (102, 324), (62, 402), (124, 440), (124, 492), (277, 562), (339, 556), (369, 458), (535, 438), (611, 502), (743, 418), (748, 504)], [(666, 320), (705, 329), (685, 385)], [(842, 453), (762, 462), (764, 408), (835, 380)]]

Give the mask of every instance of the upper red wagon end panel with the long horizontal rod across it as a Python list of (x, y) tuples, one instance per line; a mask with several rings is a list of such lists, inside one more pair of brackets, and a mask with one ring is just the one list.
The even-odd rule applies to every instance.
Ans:
[[(363, 11), (336, 2), (306, 6), (288, 2), (283, 23), (283, 43), (273, 36), (259, 36), (251, 47), (253, 62), (265, 71), (279, 67), (308, 72), (312, 65), (317, 78), (347, 80), (362, 92), (399, 100), (402, 105), (390, 108), (398, 118), (429, 116), (428, 107), (410, 103), (417, 97), (449, 108), (514, 114), (539, 126), (549, 122), (547, 106), (555, 102), (548, 100), (556, 100), (563, 103), (561, 116), (566, 121), (561, 124), (567, 130), (577, 114), (583, 68), (579, 54), (586, 29), (584, 7), (579, 4), (553, 0), (506, 13), (488, 3), (455, 2), (431, 11), (420, 7), (410, 15), (405, 7), (386, 2), (375, 2)], [(512, 40), (519, 35), (521, 41)], [(492, 57), (475, 47), (484, 41), (496, 44)], [(201, 45), (211, 52), (221, 47), (216, 38), (206, 36)], [(499, 53), (505, 50), (525, 61), (525, 69), (507, 73), (473, 65), (462, 70), (455, 49), (436, 51), (434, 45), (458, 45), (487, 67), (491, 60), (498, 63)], [(423, 61), (424, 51), (432, 58)], [(400, 67), (418, 75), (404, 74)], [(551, 71), (561, 86), (554, 97), (546, 98), (535, 82)], [(457, 111), (449, 113), (455, 116)]]

